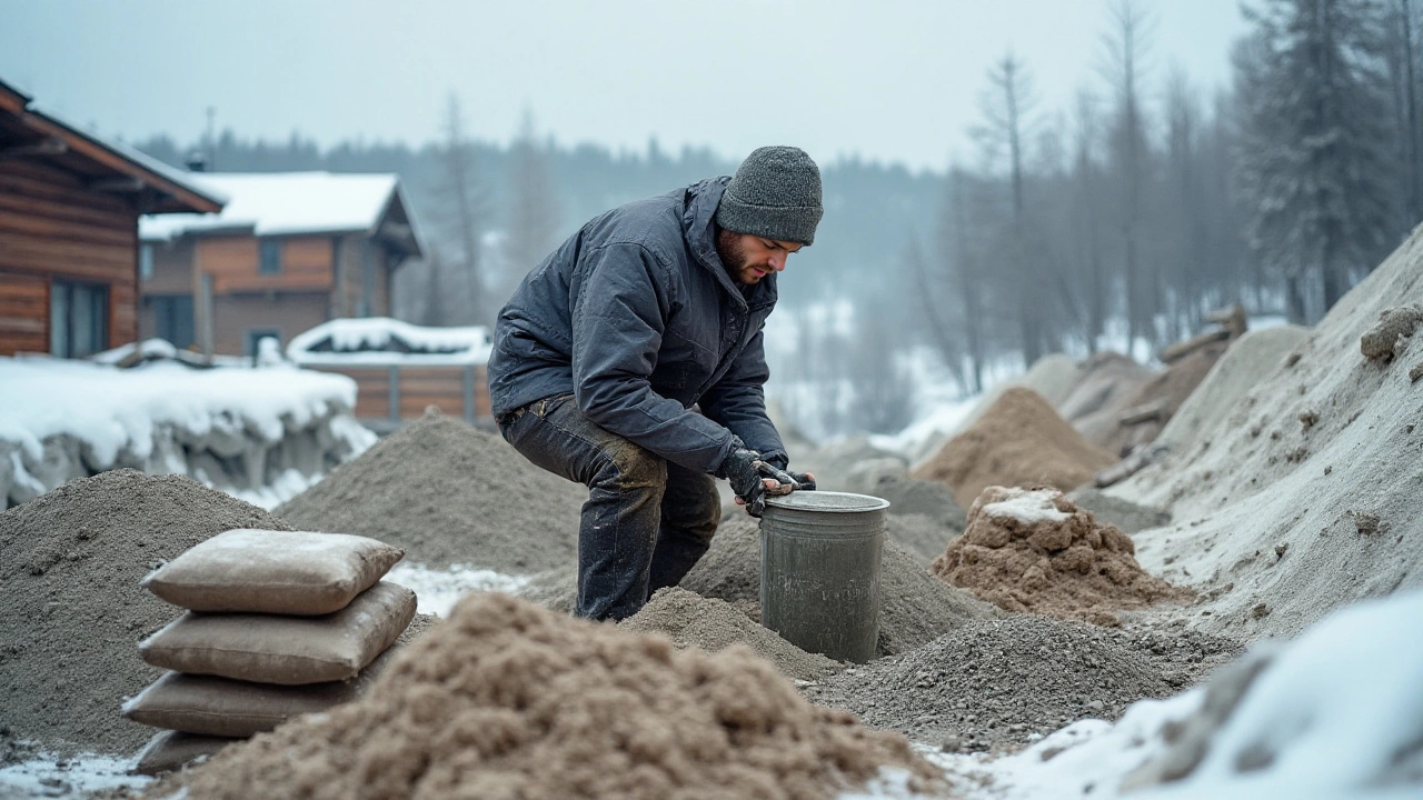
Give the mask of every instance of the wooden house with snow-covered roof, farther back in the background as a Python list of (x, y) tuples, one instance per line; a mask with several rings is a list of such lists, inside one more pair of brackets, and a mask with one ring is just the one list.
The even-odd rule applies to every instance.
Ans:
[(391, 279), (421, 246), (396, 175), (189, 174), (221, 214), (141, 221), (144, 337), (206, 354), (342, 317), (391, 313)]

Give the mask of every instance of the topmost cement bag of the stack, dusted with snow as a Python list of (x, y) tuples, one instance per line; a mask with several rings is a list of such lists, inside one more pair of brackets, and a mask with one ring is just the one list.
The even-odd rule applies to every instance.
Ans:
[(242, 528), (188, 549), (142, 585), (189, 611), (332, 614), (404, 555), (366, 537)]

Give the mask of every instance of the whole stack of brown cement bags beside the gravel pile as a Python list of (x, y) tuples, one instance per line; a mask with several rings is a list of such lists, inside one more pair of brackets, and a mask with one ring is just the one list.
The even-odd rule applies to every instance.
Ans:
[(154, 774), (360, 695), (416, 615), (416, 594), (380, 578), (404, 551), (344, 534), (236, 530), (144, 578), (188, 609), (144, 639), (166, 669), (124, 703), (165, 729), (139, 754)]

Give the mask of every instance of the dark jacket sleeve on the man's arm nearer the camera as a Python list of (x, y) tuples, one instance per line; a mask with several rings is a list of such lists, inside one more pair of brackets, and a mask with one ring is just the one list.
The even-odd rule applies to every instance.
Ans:
[(670, 310), (666, 269), (639, 245), (583, 255), (573, 300), (573, 396), (599, 427), (689, 470), (712, 473), (731, 431), (652, 390)]

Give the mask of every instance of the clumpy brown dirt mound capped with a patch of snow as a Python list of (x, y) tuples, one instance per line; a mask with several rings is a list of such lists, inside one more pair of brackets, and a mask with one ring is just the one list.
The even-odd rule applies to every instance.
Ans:
[(932, 569), (1006, 611), (1116, 625), (1116, 609), (1181, 596), (1141, 569), (1134, 551), (1131, 537), (1057, 490), (989, 487)]

